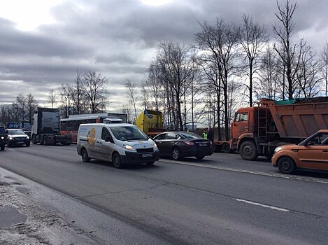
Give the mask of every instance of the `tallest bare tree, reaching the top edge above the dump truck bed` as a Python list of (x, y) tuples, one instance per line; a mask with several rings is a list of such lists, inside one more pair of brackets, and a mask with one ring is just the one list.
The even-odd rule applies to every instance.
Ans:
[[(301, 50), (306, 45), (306, 42), (301, 40), (299, 44), (292, 43), (292, 33), (294, 31), (294, 22), (292, 18), (294, 11), (297, 8), (297, 3), (290, 3), (286, 0), (284, 7), (280, 6), (277, 1), (278, 13), (275, 13), (276, 18), (281, 22), (283, 27), (273, 26), (273, 31), (277, 36), (278, 45), (275, 45), (275, 50), (283, 62), (283, 72), (287, 79), (287, 95), (288, 99), (293, 99), (294, 92), (297, 90), (297, 69), (301, 59)], [(278, 47), (280, 46), (280, 48)], [(283, 84), (285, 87), (285, 84)], [(284, 96), (285, 94), (283, 94)]]

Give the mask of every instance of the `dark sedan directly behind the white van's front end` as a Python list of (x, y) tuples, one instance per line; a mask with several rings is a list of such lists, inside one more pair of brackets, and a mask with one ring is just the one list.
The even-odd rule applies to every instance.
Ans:
[(164, 132), (154, 137), (154, 141), (159, 148), (159, 154), (171, 156), (173, 160), (184, 157), (196, 157), (201, 160), (213, 153), (212, 142), (192, 132)]

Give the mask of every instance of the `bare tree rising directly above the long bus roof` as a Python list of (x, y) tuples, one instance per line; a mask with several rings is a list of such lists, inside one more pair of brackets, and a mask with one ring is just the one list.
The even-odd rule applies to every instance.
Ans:
[(108, 103), (108, 91), (105, 88), (107, 78), (95, 71), (88, 71), (83, 77), (83, 91), (90, 106), (90, 113), (104, 112)]

